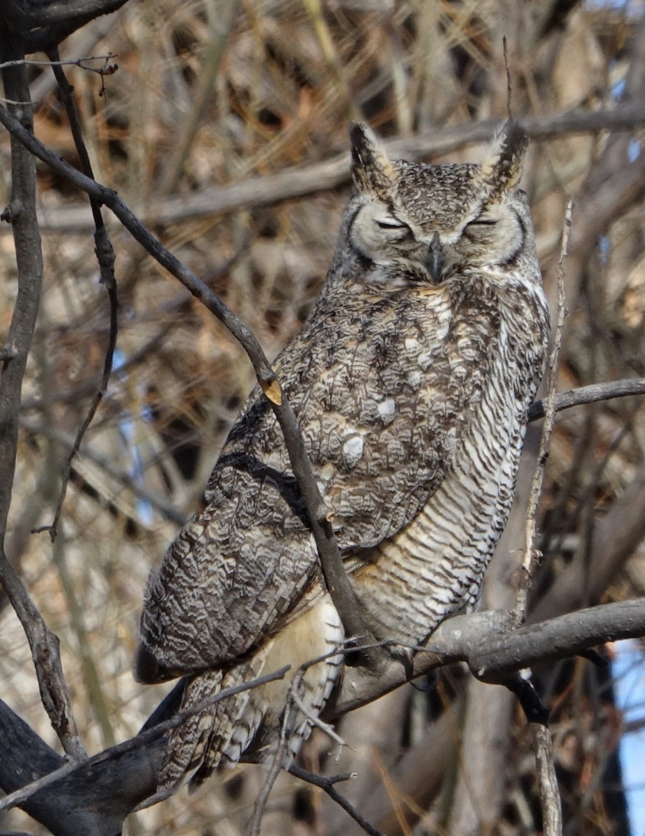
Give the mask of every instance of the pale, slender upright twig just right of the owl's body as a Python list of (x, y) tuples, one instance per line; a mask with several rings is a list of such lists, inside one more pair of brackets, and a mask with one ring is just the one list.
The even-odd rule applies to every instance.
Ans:
[(546, 466), (546, 459), (549, 456), (549, 446), (551, 444), (551, 433), (553, 432), (553, 425), (556, 417), (555, 397), (557, 385), (557, 369), (558, 360), (560, 359), (560, 349), (562, 344), (562, 334), (564, 332), (564, 321), (566, 318), (566, 299), (565, 299), (565, 263), (566, 253), (569, 247), (569, 233), (571, 232), (571, 216), (573, 214), (573, 201), (568, 201), (566, 204), (566, 211), (564, 217), (564, 224), (562, 227), (562, 247), (560, 252), (560, 260), (557, 265), (557, 324), (556, 336), (553, 342), (553, 349), (551, 350), (551, 358), (549, 359), (549, 380), (548, 380), (548, 395), (546, 398), (546, 414), (544, 426), (542, 427), (542, 437), (540, 440), (540, 451), (537, 456), (536, 470), (533, 474), (533, 481), (531, 482), (531, 494), (529, 497), (529, 507), (526, 511), (526, 550), (524, 553), (524, 560), (522, 562), (522, 573), (524, 578), (520, 584), (520, 589), (517, 593), (517, 602), (513, 612), (513, 621), (515, 627), (524, 620), (526, 614), (526, 603), (528, 600), (529, 586), (531, 584), (531, 577), (533, 569), (540, 558), (535, 548), (536, 540), (536, 513), (537, 505), (540, 502), (542, 483), (544, 482), (544, 471)]

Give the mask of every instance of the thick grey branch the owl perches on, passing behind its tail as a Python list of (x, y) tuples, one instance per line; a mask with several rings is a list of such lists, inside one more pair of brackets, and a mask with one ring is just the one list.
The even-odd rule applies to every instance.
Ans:
[[(407, 669), (396, 660), (391, 660), (380, 676), (370, 675), (363, 668), (348, 667), (338, 700), (328, 706), (325, 718), (353, 711), (450, 661), (464, 660), (481, 678), (503, 681), (510, 673), (538, 660), (559, 659), (606, 640), (643, 635), (645, 599), (605, 604), (510, 632), (506, 626), (509, 623), (510, 613), (501, 610), (459, 616), (444, 622), (434, 633), (428, 650), (417, 653), (414, 665)], [(168, 706), (171, 714), (172, 701)], [(165, 711), (155, 712), (155, 721), (164, 720)], [(0, 727), (5, 730), (0, 737), (0, 788), (23, 786), (31, 777), (46, 774), (60, 763), (59, 757), (2, 701)], [(28, 801), (24, 800), (28, 793), (23, 793), (20, 806), (27, 809), (28, 803), (38, 801), (41, 812), (36, 815), (32, 812), (35, 808), (29, 812), (48, 827), (51, 820), (43, 810), (68, 811), (66, 823), (56, 830), (60, 836), (89, 833), (74, 829), (79, 821), (74, 816), (100, 809), (114, 827), (110, 836), (118, 833), (119, 817), (124, 817), (143, 798), (155, 794), (163, 758), (163, 746), (155, 732), (159, 730), (148, 726), (131, 741), (106, 749), (88, 762), (70, 766), (62, 777), (40, 788)], [(94, 832), (109, 833), (99, 829)]]

